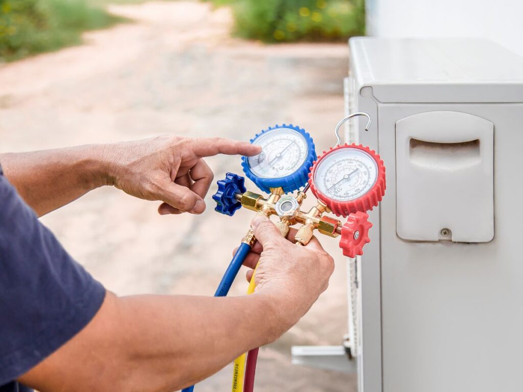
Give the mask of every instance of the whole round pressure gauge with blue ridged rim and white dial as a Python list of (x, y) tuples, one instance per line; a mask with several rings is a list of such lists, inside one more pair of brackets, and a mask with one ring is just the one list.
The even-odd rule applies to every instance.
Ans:
[(282, 187), (288, 193), (305, 186), (316, 152), (304, 129), (292, 124), (269, 126), (251, 143), (261, 146), (261, 153), (242, 157), (242, 167), (259, 189), (270, 193), (269, 188)]

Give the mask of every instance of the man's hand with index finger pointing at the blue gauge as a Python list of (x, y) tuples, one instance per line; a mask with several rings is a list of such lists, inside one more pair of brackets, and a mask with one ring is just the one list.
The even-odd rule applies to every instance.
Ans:
[(158, 136), (104, 146), (109, 185), (140, 199), (159, 200), (158, 212), (201, 214), (203, 198), (213, 174), (202, 159), (217, 154), (259, 154), (261, 148), (247, 142), (212, 137), (187, 139)]

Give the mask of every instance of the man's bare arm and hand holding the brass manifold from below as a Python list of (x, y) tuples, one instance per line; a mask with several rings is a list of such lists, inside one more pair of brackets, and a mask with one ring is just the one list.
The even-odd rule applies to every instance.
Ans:
[(170, 392), (275, 340), (326, 289), (334, 263), (314, 237), (307, 246), (294, 245), (259, 216), (253, 229), (260, 243), (248, 260), (259, 261), (254, 294), (118, 298), (108, 293), (81, 332), (19, 381), (41, 392)]

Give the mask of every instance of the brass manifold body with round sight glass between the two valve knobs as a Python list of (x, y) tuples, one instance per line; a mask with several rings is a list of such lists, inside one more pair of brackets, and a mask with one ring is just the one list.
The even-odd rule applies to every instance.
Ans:
[(324, 216), (324, 213), (331, 211), (320, 200), (308, 212), (300, 210), (301, 204), (306, 198), (305, 192), (307, 190), (308, 186), (294, 197), (293, 195), (285, 194), (283, 189), (278, 187), (270, 188), (271, 193), (267, 198), (250, 191), (236, 193), (235, 198), (248, 210), (263, 213), (267, 217), (270, 215), (279, 216), (280, 221), (276, 223), (276, 226), (283, 237), (287, 237), (287, 234), (289, 234), (290, 226), (301, 223), (302, 226), (294, 236), (296, 244), (307, 245), (315, 229), (329, 237), (340, 235), (342, 233), (342, 222), (335, 218)]

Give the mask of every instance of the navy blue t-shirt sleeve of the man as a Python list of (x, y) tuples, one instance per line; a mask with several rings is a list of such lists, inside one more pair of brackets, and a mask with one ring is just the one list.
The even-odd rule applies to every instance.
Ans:
[(76, 335), (104, 297), (0, 168), (0, 386)]

